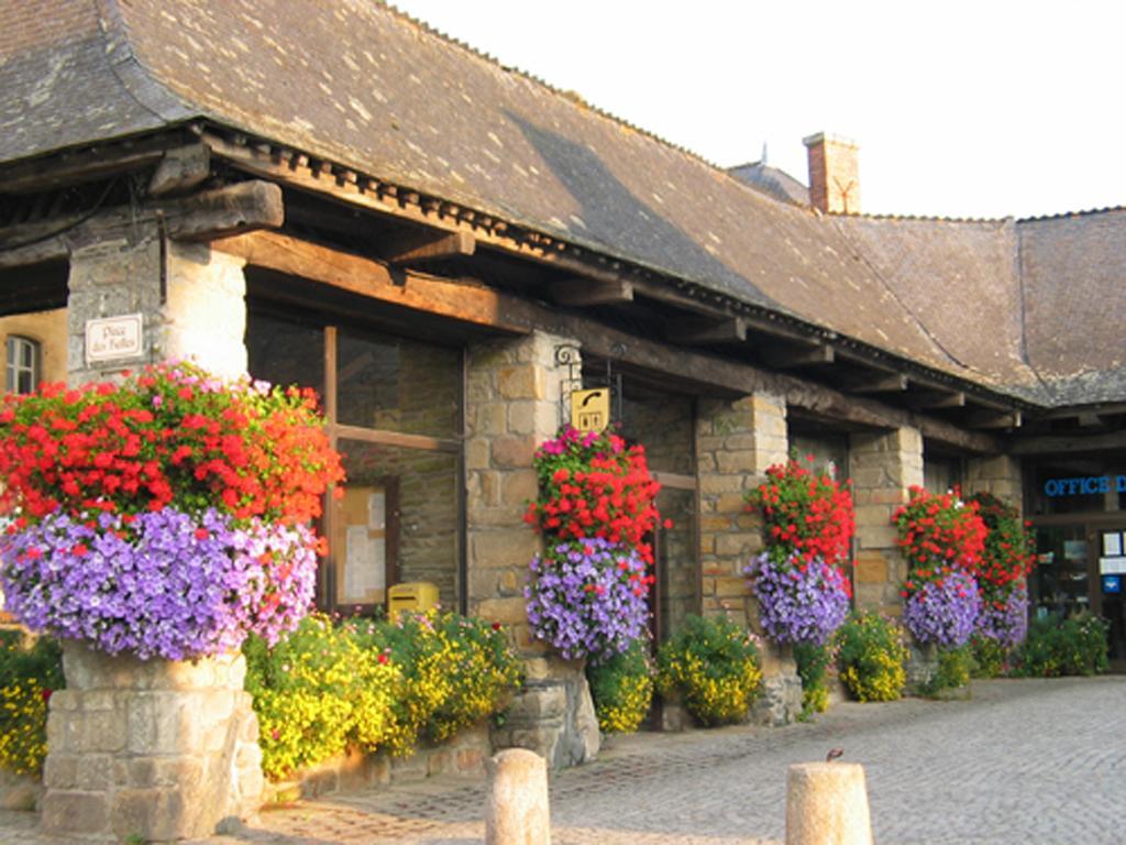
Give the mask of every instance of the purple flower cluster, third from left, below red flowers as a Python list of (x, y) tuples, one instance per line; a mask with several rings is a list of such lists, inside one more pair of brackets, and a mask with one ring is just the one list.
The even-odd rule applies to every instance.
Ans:
[(743, 570), (759, 599), (759, 621), (775, 642), (821, 644), (844, 622), (844, 575), (820, 558), (776, 561), (760, 554)]

